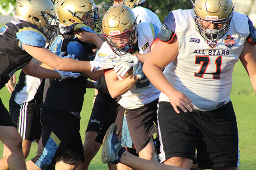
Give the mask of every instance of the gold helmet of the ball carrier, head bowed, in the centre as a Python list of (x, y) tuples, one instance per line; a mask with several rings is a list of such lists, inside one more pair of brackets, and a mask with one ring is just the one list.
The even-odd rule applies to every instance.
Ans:
[[(102, 19), (103, 36), (106, 37), (108, 45), (115, 53), (119, 51), (120, 54), (126, 54), (135, 47), (137, 43), (136, 28), (135, 14), (126, 5), (112, 6)], [(112, 41), (112, 38), (124, 36), (130, 37), (130, 40), (125, 45), (119, 45)]]

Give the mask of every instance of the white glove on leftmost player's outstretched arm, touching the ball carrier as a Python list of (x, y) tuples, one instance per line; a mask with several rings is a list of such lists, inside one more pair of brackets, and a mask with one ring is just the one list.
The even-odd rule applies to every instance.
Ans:
[(106, 55), (103, 57), (95, 57), (93, 61), (90, 61), (91, 72), (97, 70), (104, 70), (108, 68), (114, 68), (116, 65), (116, 58), (113, 55)]

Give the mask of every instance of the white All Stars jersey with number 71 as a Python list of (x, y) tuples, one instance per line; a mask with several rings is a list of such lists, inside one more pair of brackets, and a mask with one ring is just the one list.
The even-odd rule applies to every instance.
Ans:
[[(177, 35), (178, 55), (166, 67), (164, 75), (175, 89), (192, 100), (196, 110), (223, 106), (230, 101), (233, 67), (249, 35), (247, 16), (234, 12), (229, 31), (215, 46), (208, 45), (196, 31), (192, 9), (178, 9), (172, 14), (165, 22)], [(161, 93), (159, 101), (169, 99)]]

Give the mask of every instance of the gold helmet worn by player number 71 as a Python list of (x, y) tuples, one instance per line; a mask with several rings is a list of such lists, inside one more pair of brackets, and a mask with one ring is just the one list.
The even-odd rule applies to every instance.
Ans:
[[(196, 29), (205, 40), (217, 41), (228, 32), (234, 10), (232, 0), (195, 0), (193, 5)], [(206, 29), (202, 22), (223, 23), (223, 27)]]

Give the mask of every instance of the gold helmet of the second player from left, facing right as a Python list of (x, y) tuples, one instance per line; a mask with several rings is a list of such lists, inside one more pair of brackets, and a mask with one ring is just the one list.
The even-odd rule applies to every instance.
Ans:
[(100, 31), (102, 19), (98, 15), (98, 7), (93, 0), (61, 0), (56, 7), (61, 24), (70, 26), (75, 22), (82, 22)]

